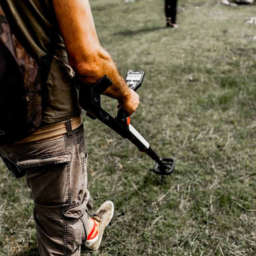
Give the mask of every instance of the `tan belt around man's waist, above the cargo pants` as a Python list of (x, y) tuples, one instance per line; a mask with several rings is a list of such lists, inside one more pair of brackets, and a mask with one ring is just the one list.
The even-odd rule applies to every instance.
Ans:
[[(81, 117), (71, 118), (71, 127), (72, 130), (75, 130), (82, 124)], [(63, 137), (65, 133), (67, 133), (66, 121), (61, 121), (55, 124), (49, 124), (43, 127), (38, 128), (34, 133), (32, 133), (29, 137), (20, 140), (16, 143), (28, 143), (28, 142), (46, 142), (49, 140), (55, 140)]]

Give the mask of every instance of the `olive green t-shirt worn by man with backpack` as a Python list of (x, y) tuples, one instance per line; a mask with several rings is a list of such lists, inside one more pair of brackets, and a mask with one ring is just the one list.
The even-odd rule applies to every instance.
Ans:
[[(56, 31), (52, 0), (0, 0), (12, 33), (37, 63), (45, 56)], [(47, 101), (42, 113), (42, 125), (64, 121), (80, 114), (78, 95), (71, 83), (72, 69), (61, 36), (57, 40), (55, 57), (45, 90)]]

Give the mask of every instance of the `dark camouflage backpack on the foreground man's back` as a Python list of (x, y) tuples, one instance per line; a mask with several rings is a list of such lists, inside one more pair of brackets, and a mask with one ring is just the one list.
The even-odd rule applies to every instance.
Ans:
[(41, 91), (46, 86), (53, 52), (54, 48), (49, 47), (39, 69), (11, 33), (0, 6), (0, 146), (26, 138), (41, 123)]

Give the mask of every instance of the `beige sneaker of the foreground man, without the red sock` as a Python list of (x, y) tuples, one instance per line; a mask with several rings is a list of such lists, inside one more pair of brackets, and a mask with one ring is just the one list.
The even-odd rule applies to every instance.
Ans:
[(103, 237), (104, 230), (106, 226), (109, 225), (109, 222), (112, 220), (114, 214), (114, 204), (112, 201), (104, 202), (96, 211), (96, 213), (91, 217), (99, 222), (98, 229), (98, 239), (95, 241), (89, 240), (85, 242), (85, 247), (90, 251), (97, 251), (101, 245), (101, 240)]

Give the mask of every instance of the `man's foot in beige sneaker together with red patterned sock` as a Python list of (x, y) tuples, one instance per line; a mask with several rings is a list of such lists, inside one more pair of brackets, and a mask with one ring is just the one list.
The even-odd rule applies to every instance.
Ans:
[(112, 220), (114, 214), (114, 204), (112, 201), (104, 202), (91, 217), (94, 222), (93, 229), (87, 237), (85, 242), (86, 249), (90, 251), (97, 251), (101, 245), (104, 230), (109, 222)]

